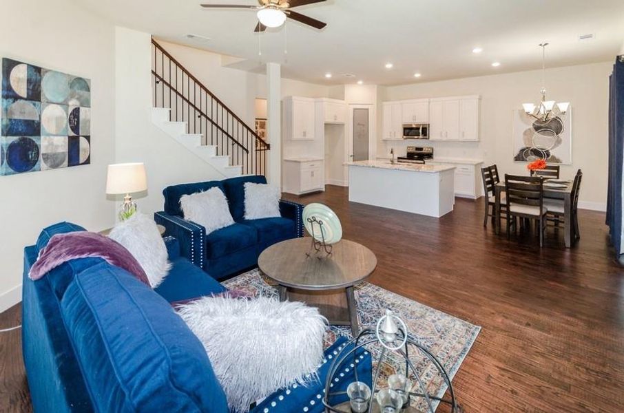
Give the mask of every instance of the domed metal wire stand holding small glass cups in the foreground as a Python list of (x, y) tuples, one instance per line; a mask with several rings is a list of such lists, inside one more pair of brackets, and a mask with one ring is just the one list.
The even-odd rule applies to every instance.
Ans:
[[(373, 388), (366, 383), (359, 381), (357, 368), (355, 381), (349, 384), (346, 392), (333, 392), (331, 385), (340, 367), (344, 363), (351, 363), (357, 359), (357, 354), (368, 351), (371, 346), (381, 346), (377, 366), (373, 372)], [(410, 350), (415, 350), (422, 357), (433, 363), (437, 374), (439, 374), (448, 388), (448, 399), (444, 399), (432, 394), (428, 394), (427, 386), (422, 378), (417, 374), (417, 370), (410, 360)], [(370, 351), (369, 351), (370, 352)], [(371, 352), (373, 354), (373, 352)], [(389, 363), (389, 357), (395, 354), (399, 360), (405, 362), (405, 371), (402, 374), (393, 374), (387, 378), (387, 388), (380, 388), (379, 372), (384, 363)], [(412, 356), (413, 357), (413, 356)], [(400, 373), (400, 372), (397, 372)], [(349, 401), (338, 405), (330, 405), (330, 401), (335, 396), (346, 394)], [(424, 403), (413, 403), (414, 401), (424, 401)], [(342, 352), (334, 357), (333, 363), (327, 374), (325, 383), (323, 405), (326, 413), (415, 413), (422, 412), (414, 404), (424, 405), (428, 413), (435, 413), (435, 406), (438, 403), (446, 403), (450, 406), (451, 413), (461, 412), (461, 407), (455, 401), (453, 385), (446, 370), (439, 360), (431, 354), (429, 350), (417, 343), (408, 334), (405, 322), (394, 315), (391, 310), (386, 310), (386, 314), (377, 321), (375, 329), (368, 328), (362, 330), (357, 337), (351, 339), (348, 345), (344, 346)]]

